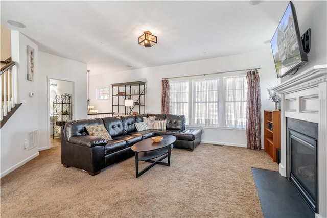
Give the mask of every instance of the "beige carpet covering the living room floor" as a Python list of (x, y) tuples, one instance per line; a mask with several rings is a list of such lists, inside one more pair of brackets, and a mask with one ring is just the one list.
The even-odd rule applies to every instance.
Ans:
[(0, 215), (262, 217), (251, 167), (278, 170), (264, 151), (202, 143), (193, 152), (173, 149), (170, 167), (137, 179), (134, 157), (90, 176), (64, 168), (54, 147), (1, 179)]

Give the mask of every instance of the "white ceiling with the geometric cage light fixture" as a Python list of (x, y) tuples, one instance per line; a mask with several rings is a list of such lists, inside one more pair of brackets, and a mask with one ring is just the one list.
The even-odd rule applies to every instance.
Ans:
[[(0, 1), (1, 23), (103, 74), (267, 48), (289, 1)], [(307, 19), (312, 1), (293, 1)], [(9, 25), (15, 20), (26, 25)], [(138, 45), (144, 31), (158, 37)], [(269, 42), (268, 42), (269, 43)], [(128, 67), (131, 65), (132, 67)]]

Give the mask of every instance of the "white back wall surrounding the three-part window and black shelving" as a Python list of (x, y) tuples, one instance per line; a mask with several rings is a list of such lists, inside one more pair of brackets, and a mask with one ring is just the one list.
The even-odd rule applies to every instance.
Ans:
[[(144, 81), (146, 82), (146, 113), (161, 113), (161, 79), (177, 76), (189, 76), (198, 74), (210, 74), (214, 72), (233, 71), (261, 67), (262, 111), (274, 109), (274, 104), (268, 101), (267, 87), (277, 85), (276, 71), (270, 45), (264, 51), (251, 52), (235, 56), (198, 60), (172, 65), (130, 70), (119, 74), (90, 74), (90, 99), (91, 105), (95, 105), (99, 112), (111, 112), (111, 96), (107, 104), (101, 104), (102, 100), (96, 101), (94, 96), (95, 87), (111, 83)], [(92, 94), (91, 94), (92, 93)], [(263, 113), (262, 113), (263, 114)], [(245, 130), (231, 130), (223, 128), (204, 128), (202, 141), (215, 144), (246, 147)], [(263, 142), (263, 118), (262, 118), (262, 142)], [(263, 145), (262, 145), (263, 146)]]

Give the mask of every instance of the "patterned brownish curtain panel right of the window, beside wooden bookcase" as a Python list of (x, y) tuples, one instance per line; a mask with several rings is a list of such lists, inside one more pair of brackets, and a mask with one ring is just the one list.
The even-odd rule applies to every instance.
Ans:
[(246, 143), (248, 149), (261, 149), (261, 98), (260, 78), (257, 70), (246, 75), (248, 92), (246, 104)]

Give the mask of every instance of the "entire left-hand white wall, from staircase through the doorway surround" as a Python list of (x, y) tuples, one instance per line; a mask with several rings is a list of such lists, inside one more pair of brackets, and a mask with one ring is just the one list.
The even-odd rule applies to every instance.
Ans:
[[(16, 62), (18, 76), (18, 102), (20, 106), (8, 122), (1, 128), (1, 177), (38, 156), (42, 149), (50, 148), (50, 79), (74, 82), (73, 119), (87, 118), (87, 66), (85, 63), (39, 52), (38, 46), (18, 31), (11, 31), (12, 60)], [(34, 81), (28, 81), (27, 51), (34, 49)], [(34, 96), (29, 97), (28, 93)], [(24, 148), (28, 132), (38, 131), (38, 147)]]

